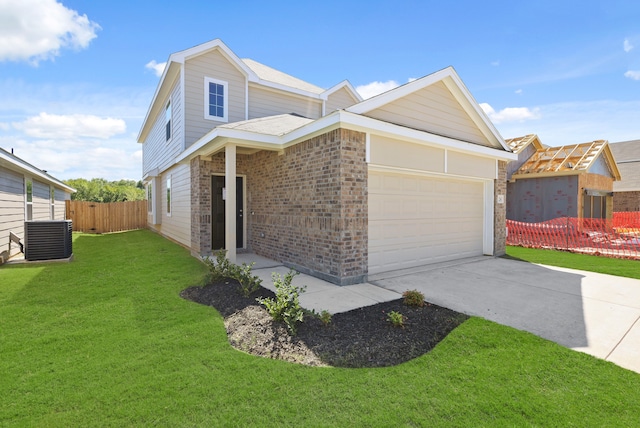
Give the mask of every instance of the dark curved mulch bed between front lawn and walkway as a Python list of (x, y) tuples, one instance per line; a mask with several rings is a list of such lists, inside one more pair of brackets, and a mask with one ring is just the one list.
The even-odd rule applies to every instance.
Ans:
[[(229, 342), (236, 349), (269, 358), (333, 367), (385, 367), (419, 357), (464, 322), (464, 314), (426, 303), (421, 308), (402, 299), (334, 314), (325, 325), (306, 314), (291, 336), (284, 323), (275, 322), (257, 297), (275, 297), (260, 287), (250, 297), (235, 281), (190, 287), (183, 298), (214, 307), (224, 317)], [(387, 321), (397, 311), (406, 317), (403, 328)]]

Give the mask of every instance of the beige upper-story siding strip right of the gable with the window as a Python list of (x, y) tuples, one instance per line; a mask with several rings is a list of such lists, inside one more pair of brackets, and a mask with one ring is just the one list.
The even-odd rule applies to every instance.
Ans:
[(322, 115), (322, 102), (282, 91), (249, 86), (249, 119), (286, 113), (319, 119)]

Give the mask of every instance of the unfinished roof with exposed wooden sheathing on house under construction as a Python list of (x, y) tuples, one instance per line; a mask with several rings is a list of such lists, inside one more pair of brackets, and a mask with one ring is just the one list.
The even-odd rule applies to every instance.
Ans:
[(599, 156), (604, 156), (611, 176), (620, 180), (620, 171), (606, 140), (572, 144), (560, 147), (547, 147), (538, 150), (513, 174), (512, 178), (522, 176), (557, 176), (588, 172)]

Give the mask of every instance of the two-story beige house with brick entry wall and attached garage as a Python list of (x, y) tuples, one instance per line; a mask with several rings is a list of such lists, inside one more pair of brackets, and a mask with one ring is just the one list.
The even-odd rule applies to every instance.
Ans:
[(169, 57), (138, 142), (149, 225), (337, 284), (503, 254), (509, 147), (453, 68), (362, 101), (220, 40)]

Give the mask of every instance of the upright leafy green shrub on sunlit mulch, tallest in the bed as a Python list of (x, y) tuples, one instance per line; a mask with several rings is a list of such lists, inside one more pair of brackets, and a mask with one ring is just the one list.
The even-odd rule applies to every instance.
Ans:
[(289, 332), (295, 335), (298, 329), (298, 324), (302, 322), (304, 318), (304, 309), (300, 307), (300, 293), (304, 292), (306, 287), (296, 287), (291, 285), (293, 277), (298, 272), (291, 269), (287, 274), (282, 275), (273, 273), (273, 285), (276, 287), (276, 297), (264, 298), (259, 297), (256, 299), (260, 304), (264, 305), (275, 321), (283, 321)]

